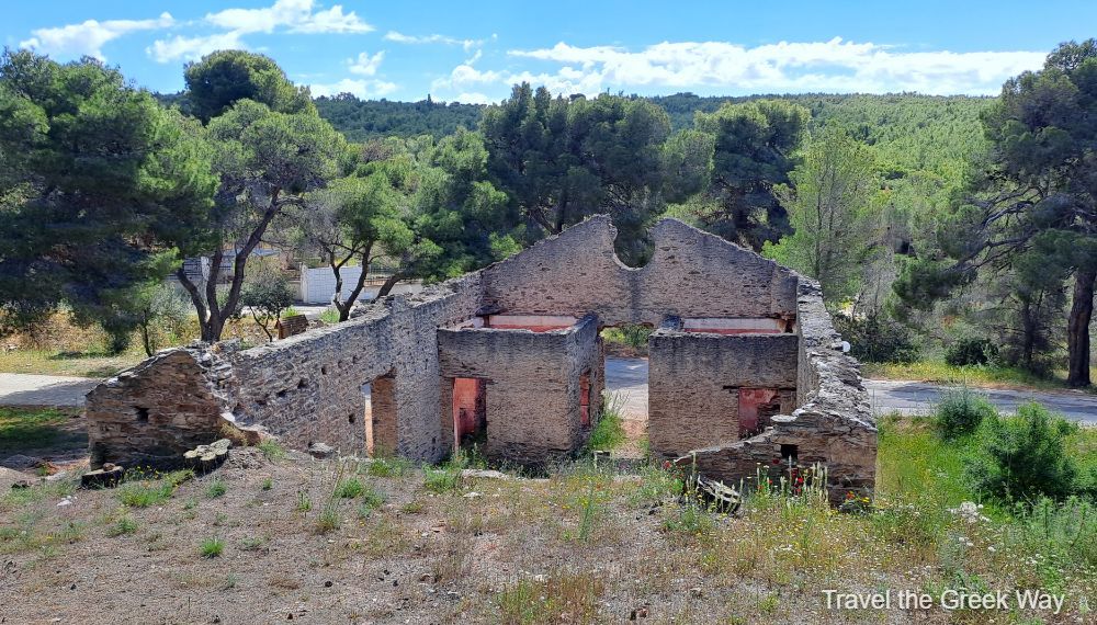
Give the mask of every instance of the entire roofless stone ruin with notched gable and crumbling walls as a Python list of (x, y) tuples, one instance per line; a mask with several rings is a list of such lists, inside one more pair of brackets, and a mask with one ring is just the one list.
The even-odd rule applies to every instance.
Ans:
[(343, 454), (438, 462), (474, 436), (491, 459), (545, 463), (599, 413), (599, 331), (644, 323), (655, 456), (692, 455), (730, 486), (821, 463), (833, 499), (871, 491), (877, 429), (816, 282), (675, 219), (642, 268), (614, 237), (593, 217), (342, 323), (162, 351), (88, 394), (92, 466), (171, 464), (226, 421)]

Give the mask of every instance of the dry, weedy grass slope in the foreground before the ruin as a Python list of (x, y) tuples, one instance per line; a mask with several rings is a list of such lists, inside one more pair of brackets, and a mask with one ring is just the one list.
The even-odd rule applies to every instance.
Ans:
[[(646, 611), (647, 623), (848, 623), (883, 615), (827, 611), (823, 589), (966, 584), (1063, 591), (1071, 614), (1060, 621), (1092, 616), (1077, 601), (1097, 604), (1094, 520), (1082, 525), (1088, 533), (1064, 533), (1059, 515), (1032, 523), (988, 505), (986, 520), (957, 518), (949, 509), (973, 500), (962, 453), (924, 423), (886, 420), (877, 512), (769, 495), (725, 518), (675, 504), (654, 468), (614, 477), (580, 463), (547, 480), (451, 479), (445, 467), (235, 451), (211, 476), (137, 479), (61, 508), (72, 495), (65, 482), (4, 496), (0, 554), (20, 575), (0, 594), (35, 601), (0, 598), (0, 612), (9, 622), (105, 621), (139, 601), (222, 622), (292, 612), (316, 622), (621, 623)], [(139, 588), (121, 562), (139, 562)], [(1055, 621), (930, 611), (917, 622), (991, 616)]]

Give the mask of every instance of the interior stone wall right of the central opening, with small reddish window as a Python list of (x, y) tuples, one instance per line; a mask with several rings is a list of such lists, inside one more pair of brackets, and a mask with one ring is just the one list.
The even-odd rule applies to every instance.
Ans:
[(709, 334), (659, 328), (648, 340), (648, 439), (676, 457), (739, 440), (739, 388), (792, 390), (795, 334)]

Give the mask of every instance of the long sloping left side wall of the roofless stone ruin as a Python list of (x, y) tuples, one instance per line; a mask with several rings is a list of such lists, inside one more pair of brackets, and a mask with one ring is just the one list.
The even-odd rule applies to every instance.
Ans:
[[(261, 427), (292, 446), (323, 442), (361, 454), (361, 387), (389, 375), (386, 390), (394, 410), (374, 414), (388, 416), (380, 424), (382, 442), (395, 443), (387, 451), (410, 458), (441, 459), (436, 331), (473, 317), (479, 303), (479, 275), (470, 274), (419, 294), (391, 296), (337, 326), (249, 350), (169, 350), (89, 395), (91, 445), (100, 451), (95, 457), (134, 464), (149, 454), (210, 443), (223, 416)], [(206, 362), (219, 368), (213, 371), (213, 364), (202, 364)], [(150, 414), (165, 417), (144, 424), (127, 408), (143, 402), (155, 405)]]

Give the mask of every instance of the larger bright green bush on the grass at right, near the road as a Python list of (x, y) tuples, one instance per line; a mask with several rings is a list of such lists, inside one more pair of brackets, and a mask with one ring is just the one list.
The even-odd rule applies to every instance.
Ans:
[(1077, 424), (1029, 402), (1016, 417), (988, 420), (981, 454), (968, 461), (977, 491), (1004, 500), (1062, 500), (1082, 490), (1075, 459), (1066, 439)]

